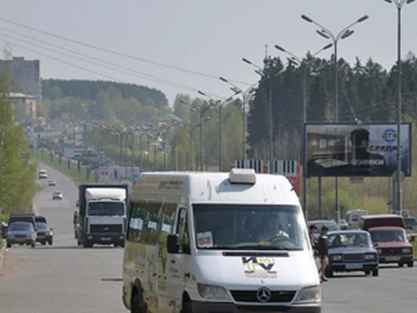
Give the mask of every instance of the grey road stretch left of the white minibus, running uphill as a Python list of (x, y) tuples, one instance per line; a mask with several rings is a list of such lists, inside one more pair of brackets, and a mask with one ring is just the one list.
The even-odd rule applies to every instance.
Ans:
[[(44, 168), (57, 187), (45, 186), (35, 205), (54, 228), (54, 245), (13, 246), (6, 252), (0, 312), (126, 313), (121, 301), (123, 249), (77, 246), (72, 228), (77, 190), (69, 179)], [(55, 189), (63, 191), (63, 201), (51, 200)]]

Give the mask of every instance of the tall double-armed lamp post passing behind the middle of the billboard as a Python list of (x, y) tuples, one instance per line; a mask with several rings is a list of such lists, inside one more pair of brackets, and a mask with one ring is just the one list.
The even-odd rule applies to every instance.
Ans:
[[(336, 111), (336, 122), (339, 121), (339, 67), (337, 64), (337, 44), (339, 40), (343, 40), (351, 36), (354, 30), (351, 30), (351, 27), (356, 25), (357, 23), (364, 22), (368, 20), (369, 16), (364, 15), (360, 19), (356, 20), (355, 22), (349, 24), (347, 27), (343, 28), (337, 35), (334, 35), (328, 28), (324, 27), (323, 25), (319, 24), (318, 22), (313, 21), (307, 15), (302, 15), (301, 18), (309, 23), (313, 23), (316, 26), (319, 26), (320, 29), (317, 30), (317, 33), (326, 38), (330, 39), (334, 45), (334, 72), (335, 72), (335, 111)], [(340, 205), (339, 205), (339, 178), (335, 178), (335, 190), (336, 190), (336, 220), (337, 223), (340, 223)]]

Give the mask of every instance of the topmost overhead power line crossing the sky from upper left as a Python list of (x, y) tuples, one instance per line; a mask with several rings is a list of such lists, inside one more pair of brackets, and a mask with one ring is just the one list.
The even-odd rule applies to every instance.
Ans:
[[(129, 54), (126, 54), (126, 53), (110, 50), (108, 48), (100, 47), (100, 46), (97, 46), (97, 45), (91, 45), (91, 44), (88, 44), (88, 43), (83, 43), (83, 42), (80, 42), (78, 40), (66, 38), (64, 36), (56, 35), (56, 34), (53, 34), (53, 33), (50, 33), (50, 32), (35, 28), (35, 27), (27, 26), (27, 25), (24, 25), (24, 24), (18, 23), (18, 22), (13, 22), (13, 21), (1, 18), (1, 17), (0, 17), (0, 21), (7, 22), (7, 23), (10, 23), (10, 24), (14, 24), (14, 25), (17, 25), (17, 26), (20, 26), (20, 27), (23, 27), (23, 28), (26, 28), (26, 29), (29, 29), (29, 30), (32, 30), (32, 31), (36, 31), (36, 32), (42, 33), (42, 34), (47, 35), (47, 36), (52, 36), (52, 37), (55, 37), (55, 38), (58, 38), (58, 39), (61, 39), (61, 40), (65, 40), (66, 42), (70, 42), (70, 43), (77, 44), (77, 45), (88, 46), (88, 47), (96, 49), (96, 50), (100, 50), (100, 51), (104, 51), (104, 52), (107, 52), (107, 53), (115, 54), (115, 55), (122, 56), (122, 57), (125, 57), (125, 58), (133, 59), (133, 60), (136, 60), (136, 61), (156, 65), (156, 66), (159, 66), (159, 67), (166, 67), (166, 68), (170, 68), (170, 69), (174, 69), (174, 70), (177, 70), (177, 71), (181, 71), (181, 72), (185, 72), (185, 73), (189, 73), (189, 74), (194, 74), (194, 75), (198, 75), (198, 76), (202, 76), (202, 77), (212, 78), (212, 79), (216, 79), (216, 80), (219, 79), (219, 77), (215, 76), (215, 75), (209, 75), (209, 74), (201, 73), (201, 72), (186, 69), (186, 68), (181, 68), (181, 67), (176, 67), (176, 66), (164, 64), (164, 63), (159, 63), (159, 62), (155, 62), (155, 61), (152, 61), (152, 60), (147, 60), (147, 59), (135, 57), (135, 56), (132, 56), (132, 55), (129, 55)], [(241, 82), (241, 81), (237, 81), (237, 80), (233, 80), (233, 82), (243, 84), (243, 85), (248, 85), (248, 86), (250, 85), (246, 82)]]

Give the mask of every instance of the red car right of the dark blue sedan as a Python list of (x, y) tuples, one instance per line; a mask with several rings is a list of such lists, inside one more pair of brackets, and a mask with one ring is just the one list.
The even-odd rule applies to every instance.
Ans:
[(413, 245), (408, 242), (404, 228), (382, 226), (368, 231), (377, 249), (379, 263), (397, 263), (400, 267), (407, 264), (410, 268), (414, 266)]

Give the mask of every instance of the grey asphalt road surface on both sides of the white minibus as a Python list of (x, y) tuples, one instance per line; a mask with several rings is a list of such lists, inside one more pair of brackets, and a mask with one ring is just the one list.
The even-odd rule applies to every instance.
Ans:
[[(35, 204), (54, 228), (54, 245), (14, 246), (6, 252), (0, 312), (127, 312), (121, 301), (123, 250), (76, 246), (72, 214), (77, 190), (69, 179), (45, 168), (57, 186), (44, 187)], [(51, 200), (55, 189), (63, 191), (63, 201)], [(416, 312), (417, 267), (381, 268), (379, 277), (336, 274), (322, 287), (324, 313)]]

